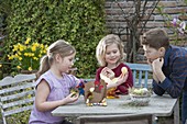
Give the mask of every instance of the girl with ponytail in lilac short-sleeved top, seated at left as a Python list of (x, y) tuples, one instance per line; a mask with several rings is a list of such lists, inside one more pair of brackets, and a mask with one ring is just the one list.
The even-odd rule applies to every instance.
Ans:
[(51, 112), (78, 99), (78, 95), (73, 97), (69, 90), (78, 86), (79, 80), (67, 75), (74, 65), (75, 55), (75, 48), (63, 40), (48, 47), (37, 72), (36, 97), (30, 124), (72, 124), (63, 117), (52, 116)]

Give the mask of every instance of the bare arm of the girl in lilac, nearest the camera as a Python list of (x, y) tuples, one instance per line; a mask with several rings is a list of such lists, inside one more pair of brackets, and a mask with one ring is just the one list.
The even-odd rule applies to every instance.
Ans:
[(73, 93), (64, 98), (63, 100), (57, 101), (46, 101), (50, 94), (50, 86), (45, 80), (42, 80), (36, 89), (36, 97), (35, 97), (35, 105), (36, 109), (41, 112), (54, 110), (55, 108), (67, 104), (70, 102), (75, 102), (78, 100), (78, 95), (73, 97)]

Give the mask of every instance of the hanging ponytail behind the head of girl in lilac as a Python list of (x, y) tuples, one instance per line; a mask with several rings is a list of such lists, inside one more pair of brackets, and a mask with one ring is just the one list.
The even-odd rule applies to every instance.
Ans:
[(40, 70), (37, 71), (36, 77), (38, 78), (41, 75), (46, 72), (50, 69), (50, 67), (51, 67), (51, 65), (50, 65), (48, 56), (45, 55), (41, 59)]

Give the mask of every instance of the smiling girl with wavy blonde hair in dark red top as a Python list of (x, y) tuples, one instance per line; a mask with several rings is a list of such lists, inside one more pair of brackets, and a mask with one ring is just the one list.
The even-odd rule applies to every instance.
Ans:
[[(120, 77), (117, 83), (109, 83), (107, 88), (117, 88), (116, 94), (128, 94), (128, 89), (133, 86), (133, 78), (131, 69), (123, 63), (123, 44), (120, 37), (114, 34), (105, 36), (97, 46), (96, 57), (100, 65), (97, 69), (96, 81), (100, 81), (100, 74), (108, 78)], [(124, 76), (121, 75), (122, 67), (128, 68), (128, 74)]]

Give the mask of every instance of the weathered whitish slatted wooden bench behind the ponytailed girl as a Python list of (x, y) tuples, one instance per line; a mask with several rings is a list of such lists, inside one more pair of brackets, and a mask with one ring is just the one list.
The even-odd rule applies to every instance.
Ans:
[(8, 116), (33, 108), (35, 78), (36, 76), (33, 74), (6, 77), (0, 80), (0, 106), (3, 124), (7, 124)]

